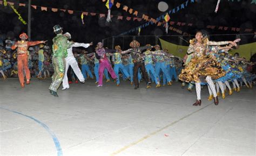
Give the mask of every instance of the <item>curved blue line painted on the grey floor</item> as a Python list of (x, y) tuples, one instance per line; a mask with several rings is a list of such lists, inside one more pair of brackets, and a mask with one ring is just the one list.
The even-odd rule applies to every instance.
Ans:
[(52, 137), (52, 139), (53, 139), (53, 141), (54, 141), (54, 144), (55, 144), (55, 147), (56, 147), (58, 156), (62, 156), (62, 155), (63, 155), (63, 153), (62, 153), (62, 147), (60, 147), (59, 140), (57, 139), (55, 133), (53, 133), (53, 132), (49, 129), (49, 127), (48, 127), (46, 124), (42, 123), (41, 121), (39, 121), (39, 120), (36, 119), (36, 118), (33, 118), (33, 117), (31, 117), (31, 116), (28, 116), (28, 115), (24, 115), (24, 114), (22, 114), (21, 112), (9, 110), (9, 109), (2, 108), (2, 107), (0, 107), (0, 109), (8, 110), (8, 111), (14, 112), (14, 113), (16, 113), (16, 114), (19, 114), (19, 115), (28, 117), (28, 118), (34, 120), (35, 122), (37, 122), (38, 124), (40, 124), (41, 126), (43, 126), (44, 129), (45, 129), (46, 131), (48, 131), (48, 133), (50, 133), (50, 135), (51, 135), (51, 137)]

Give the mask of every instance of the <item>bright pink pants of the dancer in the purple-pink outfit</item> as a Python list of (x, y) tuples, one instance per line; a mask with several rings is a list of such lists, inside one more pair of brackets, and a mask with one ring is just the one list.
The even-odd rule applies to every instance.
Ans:
[(107, 70), (109, 71), (109, 73), (110, 73), (110, 75), (113, 79), (117, 78), (117, 75), (114, 74), (114, 70), (111, 67), (108, 60), (105, 60), (103, 62), (99, 62), (99, 85), (103, 84), (103, 75), (104, 75), (104, 69), (105, 68), (107, 68)]

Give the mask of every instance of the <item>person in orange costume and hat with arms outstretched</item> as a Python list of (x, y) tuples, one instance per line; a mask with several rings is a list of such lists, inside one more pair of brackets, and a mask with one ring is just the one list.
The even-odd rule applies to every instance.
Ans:
[[(26, 39), (28, 39), (28, 36), (26, 33), (22, 33), (19, 35), (19, 38), (22, 38), (22, 36), (25, 36)], [(44, 41), (26, 41), (21, 40), (15, 42), (15, 44), (11, 47), (12, 50), (17, 49), (17, 60), (18, 60), (18, 77), (19, 82), (21, 83), (21, 86), (24, 87), (24, 75), (23, 70), (25, 69), (26, 74), (26, 84), (30, 83), (30, 71), (28, 67), (28, 61), (29, 61), (29, 53), (28, 48), (30, 46), (35, 46), (38, 44), (42, 44)]]

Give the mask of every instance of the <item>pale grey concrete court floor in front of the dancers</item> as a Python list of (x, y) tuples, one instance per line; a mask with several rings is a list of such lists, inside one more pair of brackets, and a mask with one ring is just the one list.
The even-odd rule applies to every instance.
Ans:
[(255, 88), (193, 107), (193, 91), (134, 90), (93, 80), (59, 88), (51, 80), (0, 80), (1, 155), (255, 155)]

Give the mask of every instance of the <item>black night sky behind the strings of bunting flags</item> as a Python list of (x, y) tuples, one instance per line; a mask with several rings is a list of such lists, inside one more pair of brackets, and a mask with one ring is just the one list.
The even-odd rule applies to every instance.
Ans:
[[(177, 6), (186, 0), (179, 1), (164, 1), (169, 4), (169, 9)], [(28, 1), (11, 1), (16, 3), (28, 3)], [(129, 6), (129, 8), (136, 9), (139, 13), (145, 13), (150, 17), (156, 18), (163, 14), (158, 10), (158, 3), (160, 1), (145, 1), (145, 0), (132, 0), (124, 1), (119, 0), (121, 4)], [(204, 29), (210, 34), (224, 34), (224, 33), (235, 33), (232, 31), (218, 31), (218, 30), (207, 30), (207, 25), (217, 26), (229, 26), (229, 27), (241, 27), (241, 28), (253, 28), (255, 30), (256, 25), (256, 5), (250, 4), (251, 0), (240, 1), (234, 0), (234, 2), (228, 2), (227, 0), (221, 0), (218, 13), (214, 13), (217, 0), (200, 0), (194, 4), (188, 5), (185, 9), (180, 10), (178, 13), (171, 15), (171, 20), (174, 22), (186, 22), (193, 23), (193, 27), (190, 26), (174, 26), (184, 32), (194, 34), (197, 30)], [(51, 8), (59, 9), (70, 9), (78, 11), (88, 11), (97, 13), (107, 13), (105, 2), (102, 0), (33, 0), (32, 5), (48, 6)], [(18, 12), (21, 13), (23, 19), (28, 21), (28, 8), (19, 7), (15, 5)], [(136, 26), (145, 23), (133, 22), (132, 20), (117, 20), (116, 17), (112, 18), (111, 23), (106, 22), (106, 18), (99, 18), (97, 16), (85, 16), (82, 24), (80, 19), (80, 13), (73, 13), (70, 15), (68, 12), (62, 11), (52, 12), (41, 11), (40, 9), (32, 10), (32, 24), (31, 24), (31, 38), (32, 40), (51, 40), (55, 34), (53, 33), (52, 27), (56, 24), (64, 27), (64, 32), (68, 31), (72, 34), (72, 39), (78, 42), (90, 42), (100, 41), (103, 38), (115, 36), (124, 31), (130, 30)], [(18, 37), (21, 32), (27, 32), (27, 26), (24, 26), (19, 22), (17, 15), (8, 7), (0, 6), (0, 33), (5, 36)], [(125, 12), (123, 9), (117, 9), (113, 6), (111, 9), (112, 15), (131, 16), (130, 13)], [(254, 31), (253, 31), (254, 32)], [(130, 35), (136, 35), (131, 33)], [(239, 32), (244, 33), (244, 32)], [(156, 25), (150, 25), (146, 29), (142, 30), (141, 35), (161, 35), (165, 34), (164, 27)], [(169, 31), (169, 35), (178, 34), (173, 31)]]

